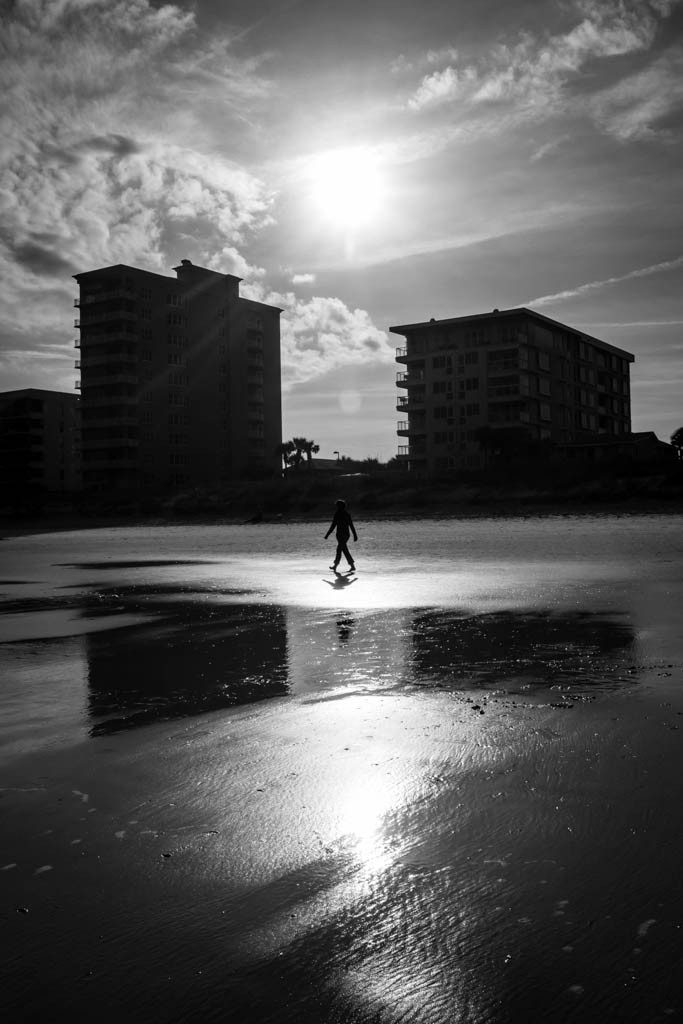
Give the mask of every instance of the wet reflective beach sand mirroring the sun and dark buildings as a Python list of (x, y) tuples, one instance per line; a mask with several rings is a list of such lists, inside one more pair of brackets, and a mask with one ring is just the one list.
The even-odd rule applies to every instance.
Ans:
[(6, 542), (7, 1019), (681, 1019), (680, 520), (449, 528)]

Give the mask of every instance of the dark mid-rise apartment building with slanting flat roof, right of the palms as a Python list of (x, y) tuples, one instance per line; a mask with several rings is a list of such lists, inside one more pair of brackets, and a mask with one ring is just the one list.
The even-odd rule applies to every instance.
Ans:
[(481, 427), (523, 428), (556, 443), (618, 437), (631, 430), (629, 365), (621, 348), (532, 309), (495, 309), (392, 327), (405, 417), (398, 455), (428, 473), (477, 468)]

